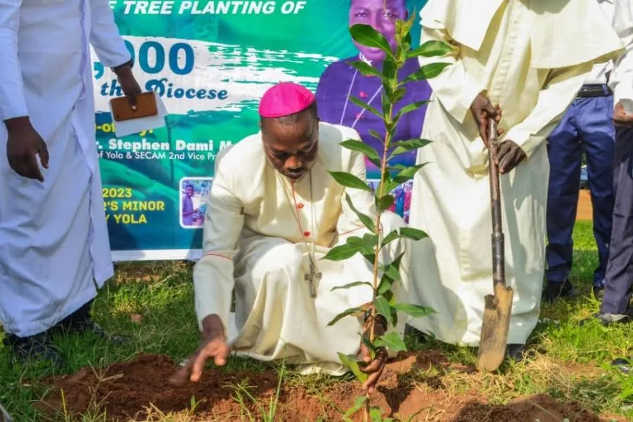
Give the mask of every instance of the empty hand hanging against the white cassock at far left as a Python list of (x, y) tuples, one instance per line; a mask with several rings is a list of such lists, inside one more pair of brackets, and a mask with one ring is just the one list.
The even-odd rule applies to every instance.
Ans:
[(6, 141), (6, 157), (14, 172), (22, 177), (37, 179), (41, 182), (39, 164), (35, 155), (39, 155), (41, 165), (49, 168), (49, 150), (41, 139), (28, 117), (15, 117), (4, 122), (8, 132)]

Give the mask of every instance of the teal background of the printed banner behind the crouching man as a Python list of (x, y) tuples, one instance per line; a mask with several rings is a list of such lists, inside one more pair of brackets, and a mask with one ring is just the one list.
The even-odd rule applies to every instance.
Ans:
[[(182, 1), (175, 1), (174, 10), (177, 10), (182, 3)], [(216, 3), (219, 2), (216, 1)], [(169, 39), (179, 39), (183, 44), (187, 44), (190, 40), (192, 43), (196, 42), (198, 49), (200, 43), (207, 43), (208, 55), (211, 58), (222, 54), (225, 57), (230, 56), (232, 52), (241, 58), (248, 58), (252, 54), (257, 56), (255, 65), (250, 66), (250, 69), (255, 72), (266, 75), (269, 70), (283, 68), (286, 75), (304, 78), (305, 80), (302, 79), (301, 83), (314, 91), (321, 72), (331, 61), (352, 56), (357, 52), (347, 30), (350, 0), (307, 0), (302, 11), (289, 15), (283, 15), (279, 11), (279, 6), (283, 1), (276, 3), (276, 12), (268, 15), (192, 15), (179, 14), (176, 11), (170, 15), (139, 15), (124, 13), (124, 5), (122, 1), (119, 1), (114, 7), (114, 13), (120, 32), (126, 39), (147, 37), (149, 41), (156, 41), (158, 44), (164, 44)], [(418, 15), (425, 3), (426, 0), (407, 0), (407, 8), (410, 13), (416, 11)], [(199, 4), (198, 7), (203, 8), (207, 1), (200, 1)], [(418, 21), (417, 16), (416, 21)], [(418, 45), (419, 32), (419, 27), (416, 25), (412, 32), (414, 45)], [(155, 68), (158, 61), (153, 49), (145, 49), (146, 54), (141, 57), (140, 49), (136, 47), (134, 45), (137, 56), (135, 73), (138, 76), (143, 72), (140, 61), (144, 60), (145, 68)], [(254, 52), (251, 53), (251, 51)], [(196, 51), (194, 66), (198, 65), (196, 59), (199, 52), (199, 50)], [(168, 51), (165, 53), (165, 63), (169, 61), (167, 56)], [(223, 65), (240, 66), (240, 63), (228, 65), (224, 63)], [(209, 66), (212, 68), (213, 64)], [(108, 89), (103, 91), (103, 84), (107, 82), (103, 76), (103, 66), (96, 62), (94, 67), (94, 90), (98, 101), (98, 97), (103, 97)], [(187, 63), (180, 60), (176, 67), (186, 68)], [(198, 69), (196, 72), (200, 75), (200, 72), (204, 73), (205, 69)], [(160, 79), (164, 76), (163, 73), (158, 72), (151, 77)], [(191, 85), (188, 83), (191, 74), (177, 76), (175, 79), (173, 73), (170, 76), (170, 82), (174, 83), (174, 87)], [(245, 78), (248, 78), (248, 75), (245, 75)], [(266, 87), (274, 82), (279, 82), (279, 80), (274, 81), (268, 77), (262, 82), (252, 81), (253, 84), (261, 83)], [(212, 83), (213, 81), (210, 82)], [(196, 84), (196, 87), (200, 88), (200, 84)], [(257, 101), (257, 96), (243, 98), (240, 101), (239, 110), (188, 110), (186, 104), (176, 108), (168, 106), (170, 115), (167, 115), (166, 127), (142, 137), (150, 142), (166, 142), (170, 146), (174, 146), (177, 140), (203, 143), (213, 139), (217, 142), (216, 148), (219, 141), (236, 143), (243, 137), (257, 132)], [(114, 134), (111, 129), (108, 129), (111, 123), (110, 113), (96, 113), (96, 140), (100, 149), (107, 149), (110, 140), (114, 139)], [(122, 141), (140, 140), (140, 135), (122, 138)], [(154, 251), (199, 250), (201, 248), (202, 229), (186, 229), (181, 226), (180, 185), (181, 179), (213, 177), (215, 165), (213, 159), (196, 160), (179, 157), (170, 160), (168, 156), (165, 156), (165, 158), (139, 160), (133, 156), (126, 158), (126, 154), (122, 153), (119, 158), (106, 158), (106, 155), (102, 155), (100, 165), (106, 215), (109, 215), (110, 245), (114, 252), (145, 251), (144, 258), (155, 259), (152, 253)], [(133, 203), (133, 201), (139, 202)], [(152, 201), (143, 203), (146, 210), (139, 209), (143, 201)], [(127, 210), (122, 209), (124, 206)], [(152, 210), (153, 207), (158, 209)], [(184, 254), (176, 255), (173, 258), (182, 257)], [(136, 254), (118, 256), (121, 259), (138, 257)], [(165, 254), (160, 257), (170, 258)]]

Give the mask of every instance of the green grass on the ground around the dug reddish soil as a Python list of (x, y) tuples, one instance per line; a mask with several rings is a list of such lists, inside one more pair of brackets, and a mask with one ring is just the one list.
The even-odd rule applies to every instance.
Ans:
[[(589, 223), (580, 222), (575, 229), (575, 265), (572, 281), (580, 291), (573, 302), (544, 305), (542, 319), (530, 339), (530, 347), (539, 350), (537, 357), (522, 364), (504, 364), (499, 374), (465, 374), (459, 371), (442, 372), (428, 369), (409, 373), (404, 378), (422, 388), (440, 385), (447, 394), (459, 394), (473, 389), (484, 393), (493, 403), (504, 403), (520, 395), (549, 393), (563, 401), (577, 401), (598, 413), (625, 416), (633, 420), (633, 378), (623, 376), (608, 367), (615, 357), (633, 354), (633, 335), (630, 326), (603, 328), (592, 322), (578, 326), (578, 321), (599, 309), (592, 298), (591, 283), (596, 267), (596, 247)], [(142, 317), (141, 324), (131, 315)], [(191, 264), (181, 262), (126, 263), (117, 267), (117, 276), (98, 295), (94, 318), (106, 330), (125, 333), (132, 341), (124, 346), (112, 345), (89, 335), (70, 335), (56, 339), (56, 344), (68, 359), (69, 373), (84, 366), (104, 368), (113, 362), (132, 359), (137, 353), (167, 354), (184, 359), (198, 345), (196, 316), (193, 309)], [(2, 337), (0, 333), (0, 338)], [(476, 350), (451, 347), (439, 343), (418, 343), (407, 339), (409, 346), (418, 349), (440, 349), (452, 362), (473, 364)], [(243, 359), (232, 359), (231, 368), (262, 371), (263, 366)], [(286, 385), (301, 385), (309, 394), (321, 397), (324, 385), (331, 378), (301, 377), (282, 369)], [(38, 379), (52, 375), (45, 364), (13, 366), (8, 364), (8, 351), (0, 345), (0, 402), (13, 414), (16, 422), (49, 420), (37, 411), (34, 403), (49, 393)], [(257, 408), (245, 385), (234, 386), (234, 397), (241, 401), (245, 420), (274, 420), (271, 403)], [(195, 407), (192, 403), (192, 407)], [(329, 404), (324, 403), (324, 406)], [(340, 409), (345, 411), (345, 409)], [(157, 410), (158, 412), (158, 410)], [(160, 413), (160, 412), (159, 412)], [(61, 414), (56, 420), (70, 421)], [(95, 404), (94, 411), (83, 415), (82, 421), (103, 421), (103, 409)], [(161, 421), (186, 420), (162, 415)], [(423, 419), (422, 419), (423, 420)]]

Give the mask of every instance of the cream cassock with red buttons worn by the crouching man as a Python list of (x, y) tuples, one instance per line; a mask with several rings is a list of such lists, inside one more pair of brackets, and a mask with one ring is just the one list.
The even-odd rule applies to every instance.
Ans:
[[(354, 129), (319, 124), (319, 153), (310, 178), (290, 183), (274, 170), (266, 156), (261, 133), (248, 136), (224, 155), (217, 167), (205, 217), (204, 254), (193, 271), (196, 313), (200, 328), (205, 316), (219, 315), (224, 327), (235, 288), (235, 328), (229, 343), (238, 354), (271, 361), (286, 359), (302, 370), (342, 374), (337, 352), (359, 351), (361, 322), (348, 316), (327, 324), (340, 312), (371, 302), (369, 286), (331, 291), (354, 281), (373, 281), (362, 255), (343, 262), (321, 260), (328, 250), (349, 236), (366, 232), (345, 202), (345, 192), (357, 210), (375, 216), (373, 195), (345, 189), (328, 170), (355, 174), (366, 180), (364, 157), (339, 145), (360, 139)], [(287, 190), (284, 190), (286, 184)], [(299, 220), (295, 219), (298, 215)], [(404, 226), (397, 215), (382, 217), (383, 234)], [(307, 244), (304, 243), (304, 235)], [(309, 252), (315, 243), (321, 281), (310, 297)], [(394, 241), (382, 252), (384, 263), (408, 250), (408, 241)], [(397, 298), (407, 298), (409, 254), (401, 264), (402, 283)], [(396, 330), (404, 333), (404, 316)]]

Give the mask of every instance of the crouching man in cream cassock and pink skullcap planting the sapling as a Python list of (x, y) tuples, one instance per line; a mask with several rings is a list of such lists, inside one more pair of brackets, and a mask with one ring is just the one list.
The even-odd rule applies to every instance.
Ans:
[[(267, 111), (276, 107), (280, 113)], [(369, 286), (332, 289), (373, 281), (373, 265), (360, 254), (322, 260), (333, 246), (367, 232), (345, 193), (357, 210), (376, 216), (371, 193), (344, 188), (328, 174), (350, 172), (366, 181), (364, 156), (339, 145), (359, 140), (359, 134), (319, 122), (314, 95), (296, 84), (269, 89), (260, 114), (261, 131), (232, 146), (217, 165), (204, 223), (204, 255), (193, 272), (203, 340), (174, 376), (177, 383), (198, 381), (207, 359), (223, 365), (231, 351), (267, 362), (283, 359), (302, 373), (333, 375), (347, 371), (338, 352), (368, 358), (361, 350), (364, 318), (328, 323), (345, 309), (371, 302)], [(405, 226), (392, 212), (381, 216), (381, 224), (383, 234)], [(397, 300), (407, 298), (408, 248), (404, 240), (381, 251), (384, 264), (404, 252), (402, 282), (394, 286)], [(404, 316), (398, 321), (390, 330), (404, 335)], [(385, 359), (377, 355), (366, 367), (372, 374), (370, 390)]]

